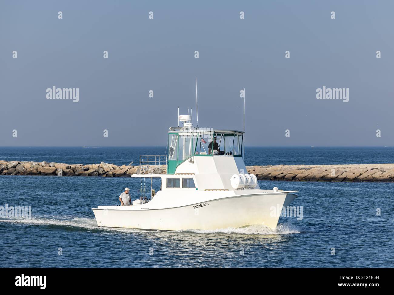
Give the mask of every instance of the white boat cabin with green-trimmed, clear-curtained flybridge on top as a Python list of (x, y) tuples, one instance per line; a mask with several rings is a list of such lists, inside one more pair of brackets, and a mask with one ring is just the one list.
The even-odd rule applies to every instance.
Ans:
[(247, 174), (243, 134), (237, 130), (170, 127), (166, 155), (141, 156), (140, 170), (132, 177), (160, 177), (163, 191), (233, 190), (232, 175)]

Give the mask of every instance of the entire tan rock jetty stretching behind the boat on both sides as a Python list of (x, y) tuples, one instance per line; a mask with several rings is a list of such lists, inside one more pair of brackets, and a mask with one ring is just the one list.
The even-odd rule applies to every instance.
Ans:
[[(145, 173), (165, 174), (166, 165), (144, 167)], [(247, 166), (260, 180), (282, 181), (394, 181), (394, 164), (266, 165)], [(131, 177), (139, 166), (110, 164), (65, 164), (55, 162), (0, 160), (0, 175), (57, 175)]]

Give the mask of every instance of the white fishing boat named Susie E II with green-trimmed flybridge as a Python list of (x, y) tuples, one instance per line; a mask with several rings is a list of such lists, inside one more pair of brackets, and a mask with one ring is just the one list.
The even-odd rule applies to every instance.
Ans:
[[(130, 206), (93, 208), (97, 225), (215, 230), (262, 224), (274, 229), (282, 208), (297, 198), (296, 190), (260, 189), (256, 176), (245, 167), (245, 132), (199, 128), (198, 104), (197, 127), (191, 113), (179, 116), (178, 108), (178, 126), (167, 132), (166, 154), (140, 156), (132, 175), (140, 178), (141, 197)], [(161, 183), (157, 192), (153, 179)], [(151, 184), (148, 197), (146, 183)]]

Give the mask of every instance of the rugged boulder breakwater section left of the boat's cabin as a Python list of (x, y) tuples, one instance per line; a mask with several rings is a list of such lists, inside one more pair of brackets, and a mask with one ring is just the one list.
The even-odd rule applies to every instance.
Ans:
[[(19, 162), (0, 160), (0, 175), (58, 175), (58, 176), (102, 176), (131, 177), (137, 173), (137, 166), (108, 164), (64, 164), (55, 162)], [(149, 168), (152, 172), (153, 168)], [(156, 169), (156, 173), (165, 173), (166, 167)]]

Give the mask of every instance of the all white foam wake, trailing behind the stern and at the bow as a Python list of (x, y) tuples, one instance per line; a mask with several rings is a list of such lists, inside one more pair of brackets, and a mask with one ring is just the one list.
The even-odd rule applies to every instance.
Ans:
[[(95, 218), (73, 218), (73, 219), (53, 219), (53, 218), (8, 218), (0, 219), (0, 222), (7, 223), (23, 223), (27, 225), (54, 225), (63, 227), (73, 227), (87, 230), (108, 230), (116, 232), (152, 232), (140, 229), (121, 229), (113, 227), (99, 227)], [(153, 232), (161, 232), (156, 230)], [(300, 229), (290, 223), (279, 223), (275, 229), (270, 229), (265, 225), (249, 225), (247, 227), (229, 227), (227, 229), (215, 229), (215, 230), (178, 230), (177, 232), (194, 232), (198, 234), (212, 234), (212, 233), (224, 233), (224, 234), (297, 234), (300, 233)]]

